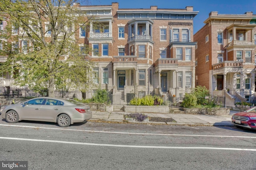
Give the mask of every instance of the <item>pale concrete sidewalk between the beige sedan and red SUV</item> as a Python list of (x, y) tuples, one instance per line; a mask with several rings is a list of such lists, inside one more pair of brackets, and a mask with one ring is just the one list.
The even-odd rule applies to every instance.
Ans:
[[(90, 120), (103, 120), (103, 121), (124, 121), (124, 115), (128, 114), (123, 111), (92, 111), (92, 119)], [(217, 126), (232, 126), (232, 115), (190, 115), (190, 114), (178, 114), (178, 113), (144, 113), (149, 117), (163, 117), (172, 118), (176, 121), (173, 122), (144, 122), (154, 124), (179, 124), (179, 125), (217, 125)], [(136, 121), (129, 121), (133, 123), (140, 123)]]

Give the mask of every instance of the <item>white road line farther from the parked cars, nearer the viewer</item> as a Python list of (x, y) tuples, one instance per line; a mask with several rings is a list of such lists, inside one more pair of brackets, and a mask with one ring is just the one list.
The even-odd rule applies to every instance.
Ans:
[(160, 147), (160, 146), (136, 146), (136, 145), (110, 145), (110, 144), (98, 144), (98, 143), (81, 143), (81, 142), (67, 142), (67, 141), (51, 141), (41, 139), (24, 139), (24, 138), (12, 138), (12, 137), (0, 137), (0, 139), (19, 140), (19, 141), (35, 141), (35, 142), (52, 142), (52, 143), (65, 143), (75, 145), (92, 145), (92, 146), (104, 146), (104, 147), (126, 147), (126, 148), (153, 148), (153, 149), (214, 149), (214, 150), (246, 150), (256, 151), (256, 149), (244, 149), (244, 148), (215, 148), (215, 147)]

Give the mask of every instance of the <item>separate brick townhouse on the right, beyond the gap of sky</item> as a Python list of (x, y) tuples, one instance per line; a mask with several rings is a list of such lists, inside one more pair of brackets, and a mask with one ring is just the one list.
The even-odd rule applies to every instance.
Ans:
[(254, 100), (256, 15), (210, 12), (205, 25), (194, 35), (196, 85), (206, 86), (213, 95)]

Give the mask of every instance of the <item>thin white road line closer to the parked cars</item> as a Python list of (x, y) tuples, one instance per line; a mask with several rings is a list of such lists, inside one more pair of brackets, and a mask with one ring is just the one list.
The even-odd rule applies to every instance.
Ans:
[(159, 136), (188, 136), (188, 137), (230, 137), (230, 138), (255, 138), (250, 136), (221, 136), (221, 135), (182, 135), (182, 134), (161, 134), (161, 133), (130, 133), (130, 132), (111, 132), (111, 131), (90, 131), (90, 130), (79, 130), (79, 129), (64, 129), (64, 128), (52, 128), (52, 127), (37, 127), (37, 126), (22, 126), (22, 125), (4, 125), (0, 126), (11, 126), (11, 127), (28, 127), (34, 129), (52, 129), (52, 130), (63, 130), (63, 131), (82, 131), (82, 132), (94, 132), (94, 133), (116, 133), (116, 134), (129, 134), (129, 135), (159, 135)]

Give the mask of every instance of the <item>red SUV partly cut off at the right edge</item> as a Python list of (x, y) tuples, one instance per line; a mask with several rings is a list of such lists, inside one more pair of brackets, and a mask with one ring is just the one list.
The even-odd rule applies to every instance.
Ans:
[(235, 113), (232, 116), (231, 123), (236, 127), (245, 127), (248, 129), (256, 130), (256, 107)]

